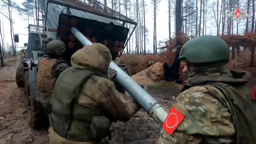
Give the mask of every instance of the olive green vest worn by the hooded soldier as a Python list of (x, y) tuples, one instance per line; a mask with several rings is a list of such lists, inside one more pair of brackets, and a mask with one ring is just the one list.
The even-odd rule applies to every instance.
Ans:
[(102, 108), (78, 104), (80, 89), (92, 75), (97, 74), (72, 66), (64, 70), (57, 79), (51, 97), (50, 120), (53, 130), (59, 136), (78, 142), (97, 142), (109, 136), (111, 124), (104, 117)]

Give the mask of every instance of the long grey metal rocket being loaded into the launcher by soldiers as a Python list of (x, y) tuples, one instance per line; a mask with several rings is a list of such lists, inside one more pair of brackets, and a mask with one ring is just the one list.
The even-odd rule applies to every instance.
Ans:
[[(72, 27), (71, 33), (82, 43), (82, 45), (92, 45), (82, 33)], [(140, 85), (128, 76), (118, 65), (111, 61), (109, 65), (117, 71), (116, 80), (133, 97), (133, 99), (158, 123), (165, 121), (168, 111), (149, 95)]]

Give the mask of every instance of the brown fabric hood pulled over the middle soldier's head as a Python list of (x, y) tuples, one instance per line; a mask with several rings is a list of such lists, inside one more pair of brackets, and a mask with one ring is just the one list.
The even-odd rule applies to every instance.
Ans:
[(109, 63), (112, 57), (107, 47), (94, 43), (79, 49), (71, 57), (71, 64), (75, 68), (96, 70), (108, 73)]

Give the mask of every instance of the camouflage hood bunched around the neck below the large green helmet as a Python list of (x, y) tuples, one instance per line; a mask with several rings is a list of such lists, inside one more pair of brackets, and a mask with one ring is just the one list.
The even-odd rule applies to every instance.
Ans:
[(207, 82), (226, 82), (245, 84), (250, 79), (251, 74), (248, 71), (224, 69), (223, 66), (218, 68), (200, 68), (194, 71), (184, 73), (187, 79), (187, 85), (196, 86)]

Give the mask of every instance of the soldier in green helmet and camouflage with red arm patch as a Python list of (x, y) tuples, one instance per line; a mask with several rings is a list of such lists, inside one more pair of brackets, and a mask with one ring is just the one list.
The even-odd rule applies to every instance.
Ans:
[(247, 71), (224, 69), (229, 47), (217, 36), (189, 40), (180, 59), (187, 84), (170, 108), (157, 144), (256, 142), (256, 101)]

